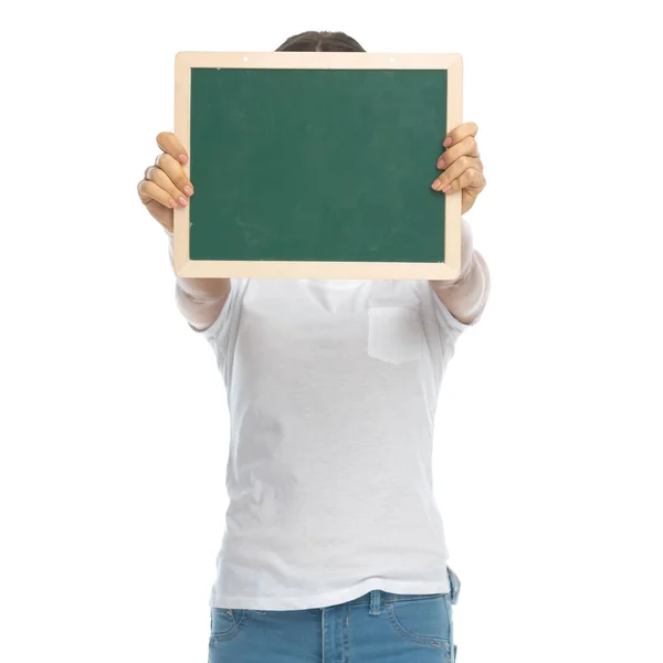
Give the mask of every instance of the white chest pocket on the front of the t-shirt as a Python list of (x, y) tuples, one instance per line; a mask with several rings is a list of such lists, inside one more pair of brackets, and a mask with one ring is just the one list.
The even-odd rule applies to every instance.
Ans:
[(414, 308), (378, 306), (368, 309), (368, 355), (388, 364), (421, 357), (423, 328)]

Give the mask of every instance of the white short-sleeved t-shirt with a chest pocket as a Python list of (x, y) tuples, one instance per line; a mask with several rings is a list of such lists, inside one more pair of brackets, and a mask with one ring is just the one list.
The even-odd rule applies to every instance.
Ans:
[(431, 451), (444, 368), (467, 326), (427, 281), (232, 280), (201, 333), (231, 421), (210, 606), (449, 591)]

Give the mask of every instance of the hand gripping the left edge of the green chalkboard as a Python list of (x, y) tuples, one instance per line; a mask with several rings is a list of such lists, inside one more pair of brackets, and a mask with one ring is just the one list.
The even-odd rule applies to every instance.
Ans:
[(145, 179), (138, 183), (138, 196), (147, 211), (172, 234), (172, 210), (187, 207), (193, 196), (193, 185), (182, 168), (189, 155), (170, 131), (159, 134), (157, 144), (162, 151), (155, 165), (146, 169)]

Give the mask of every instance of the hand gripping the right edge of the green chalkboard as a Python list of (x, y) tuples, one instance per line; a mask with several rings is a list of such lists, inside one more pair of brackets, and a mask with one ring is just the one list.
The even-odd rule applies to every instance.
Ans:
[(444, 172), (431, 185), (444, 193), (462, 191), (462, 214), (472, 208), (486, 186), (476, 145), (477, 131), (473, 122), (466, 122), (449, 133), (442, 144), (446, 150), (438, 159), (438, 168)]

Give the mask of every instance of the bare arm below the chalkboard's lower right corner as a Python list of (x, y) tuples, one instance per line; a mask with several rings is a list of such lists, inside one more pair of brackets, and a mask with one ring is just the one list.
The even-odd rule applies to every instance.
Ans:
[(462, 220), (461, 273), (455, 281), (430, 281), (452, 315), (470, 324), (482, 313), (491, 290), (491, 274), (483, 255), (474, 249), (470, 224)]

